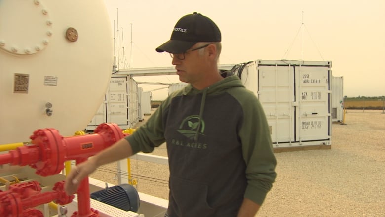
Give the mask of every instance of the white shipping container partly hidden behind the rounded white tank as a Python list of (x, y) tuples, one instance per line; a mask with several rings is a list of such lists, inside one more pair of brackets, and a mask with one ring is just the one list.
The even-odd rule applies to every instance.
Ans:
[(122, 130), (132, 128), (139, 120), (138, 110), (138, 84), (128, 75), (113, 75), (105, 101), (85, 131), (93, 131), (102, 123), (115, 123)]

